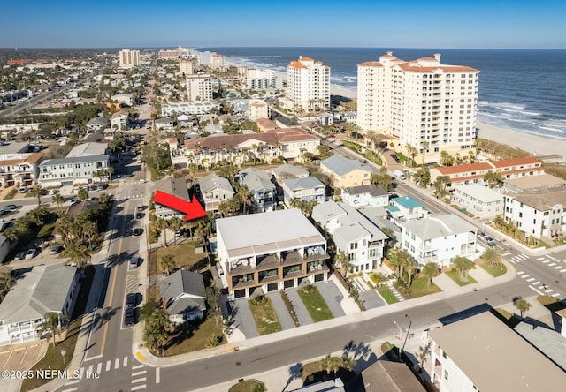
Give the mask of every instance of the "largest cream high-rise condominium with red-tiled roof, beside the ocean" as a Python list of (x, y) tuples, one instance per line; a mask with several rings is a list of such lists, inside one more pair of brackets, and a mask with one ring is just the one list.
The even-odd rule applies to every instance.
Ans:
[(392, 52), (357, 66), (357, 124), (391, 134), (417, 163), (474, 148), (479, 71), (440, 64), (440, 54), (409, 62)]

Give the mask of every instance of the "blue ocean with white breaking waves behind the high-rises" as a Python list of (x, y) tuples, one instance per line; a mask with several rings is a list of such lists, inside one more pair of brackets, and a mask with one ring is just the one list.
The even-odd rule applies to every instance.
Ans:
[[(394, 48), (199, 48), (226, 60), (285, 72), (299, 56), (331, 66), (334, 85), (356, 89), (357, 64), (378, 61), (392, 50), (409, 61), (440, 53), (440, 64), (480, 71), (478, 120), (521, 132), (566, 139), (566, 50), (394, 49)], [(275, 56), (273, 58), (251, 58)]]

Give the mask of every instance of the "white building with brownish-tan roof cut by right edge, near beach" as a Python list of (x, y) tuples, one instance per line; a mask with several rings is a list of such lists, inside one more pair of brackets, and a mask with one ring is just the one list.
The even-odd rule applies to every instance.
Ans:
[(523, 230), (525, 237), (566, 235), (566, 185), (505, 195), (505, 222)]

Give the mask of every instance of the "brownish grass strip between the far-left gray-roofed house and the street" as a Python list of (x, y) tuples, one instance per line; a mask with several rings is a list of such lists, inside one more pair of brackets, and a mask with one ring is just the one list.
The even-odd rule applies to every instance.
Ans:
[[(74, 306), (73, 317), (71, 318), (71, 323), (69, 324), (65, 332), (65, 340), (59, 342), (53, 347), (53, 340), (50, 339), (49, 348), (45, 353), (45, 357), (42, 358), (34, 367), (32, 371), (35, 373), (36, 370), (40, 369), (57, 369), (64, 370), (69, 366), (71, 358), (74, 355), (74, 348), (77, 344), (77, 339), (80, 333), (80, 324), (82, 323), (82, 317), (85, 313), (85, 307), (87, 306), (88, 292), (90, 291), (90, 286), (92, 284), (92, 279), (95, 275), (95, 269), (92, 266), (85, 268), (86, 278), (80, 285), (79, 298)], [(65, 355), (65, 365), (63, 365), (63, 356), (61, 355), (61, 350), (66, 351)], [(46, 384), (50, 380), (48, 379), (31, 379), (24, 380), (21, 386), (22, 391), (32, 390), (34, 388), (39, 388), (43, 384)]]

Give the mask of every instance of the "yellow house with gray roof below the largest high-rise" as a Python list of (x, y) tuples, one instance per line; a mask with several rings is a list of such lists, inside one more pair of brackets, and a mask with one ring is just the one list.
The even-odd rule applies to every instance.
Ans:
[(320, 171), (330, 177), (334, 188), (370, 185), (371, 167), (356, 159), (333, 155), (320, 162)]

